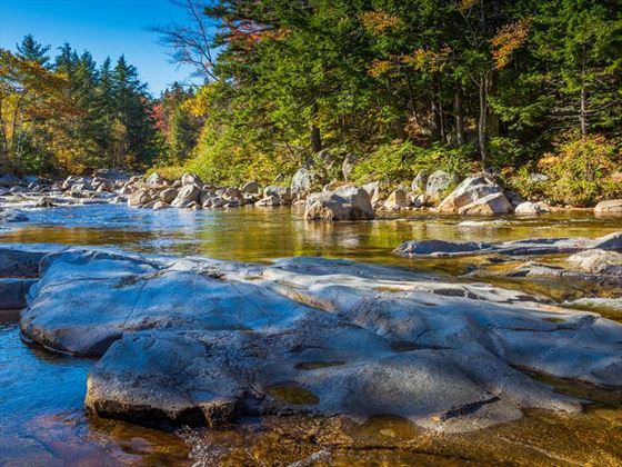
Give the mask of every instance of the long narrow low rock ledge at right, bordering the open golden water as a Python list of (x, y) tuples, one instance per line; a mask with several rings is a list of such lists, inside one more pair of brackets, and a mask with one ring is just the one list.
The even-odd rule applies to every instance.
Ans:
[(622, 231), (600, 238), (535, 238), (503, 241), (499, 244), (458, 242), (444, 240), (410, 240), (393, 250), (395, 255), (407, 258), (418, 256), (455, 256), (473, 254), (503, 255), (555, 255), (573, 254), (592, 248), (603, 250), (622, 249)]

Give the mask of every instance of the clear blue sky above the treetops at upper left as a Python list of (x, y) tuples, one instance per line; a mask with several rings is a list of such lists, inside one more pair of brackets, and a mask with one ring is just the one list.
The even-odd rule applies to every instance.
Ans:
[(87, 49), (98, 63), (124, 53), (157, 96), (175, 80), (188, 81), (192, 69), (177, 70), (158, 34), (146, 28), (184, 19), (168, 0), (0, 0), (0, 47), (14, 50), (32, 33), (52, 49), (66, 41), (79, 52)]

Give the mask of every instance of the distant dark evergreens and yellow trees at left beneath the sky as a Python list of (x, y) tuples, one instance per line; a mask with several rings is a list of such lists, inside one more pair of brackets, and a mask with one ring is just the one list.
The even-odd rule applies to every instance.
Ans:
[(195, 139), (191, 117), (179, 115), (191, 96), (174, 86), (154, 100), (123, 56), (98, 67), (66, 43), (52, 59), (29, 34), (14, 53), (0, 50), (0, 171), (140, 169), (168, 152), (177, 160)]

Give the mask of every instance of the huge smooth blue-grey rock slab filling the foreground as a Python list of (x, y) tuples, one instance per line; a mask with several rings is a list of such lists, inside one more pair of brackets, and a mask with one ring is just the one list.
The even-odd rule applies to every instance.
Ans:
[(580, 401), (516, 368), (622, 386), (622, 327), (484, 284), (321, 258), (48, 255), (27, 338), (101, 356), (87, 408), (143, 424), (395, 415), (466, 431)]

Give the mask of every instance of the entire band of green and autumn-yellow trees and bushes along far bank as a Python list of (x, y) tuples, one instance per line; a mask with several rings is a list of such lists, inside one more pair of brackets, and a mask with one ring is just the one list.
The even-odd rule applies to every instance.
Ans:
[(620, 195), (615, 0), (180, 6), (193, 20), (158, 32), (204, 85), (159, 98), (123, 57), (51, 60), (30, 36), (3, 50), (2, 170), (289, 185), (328, 149), (328, 181), (350, 160), (358, 185), (486, 169), (551, 203)]

